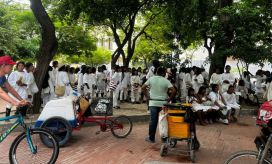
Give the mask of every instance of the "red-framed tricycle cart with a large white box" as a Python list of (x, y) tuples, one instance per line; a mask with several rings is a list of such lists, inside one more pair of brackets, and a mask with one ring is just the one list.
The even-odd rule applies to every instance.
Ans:
[(84, 97), (77, 97), (76, 100), (71, 97), (51, 100), (45, 105), (35, 127), (51, 130), (57, 137), (60, 146), (64, 146), (69, 141), (73, 130), (80, 130), (83, 123), (86, 122), (100, 126), (96, 134), (111, 131), (115, 137), (125, 138), (131, 133), (133, 125), (127, 116), (111, 116), (112, 101), (110, 98), (93, 99), (86, 112), (80, 110), (80, 99)]

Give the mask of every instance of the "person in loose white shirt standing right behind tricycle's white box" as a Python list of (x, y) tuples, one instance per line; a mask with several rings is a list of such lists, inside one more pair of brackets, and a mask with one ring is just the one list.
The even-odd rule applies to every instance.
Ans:
[(58, 96), (56, 95), (57, 98), (60, 97), (67, 97), (70, 95), (70, 92), (72, 90), (71, 86), (70, 86), (70, 81), (69, 81), (69, 77), (68, 77), (68, 73), (65, 71), (65, 65), (60, 66), (57, 76), (56, 76), (56, 84), (55, 86), (65, 86), (65, 92), (63, 96)]

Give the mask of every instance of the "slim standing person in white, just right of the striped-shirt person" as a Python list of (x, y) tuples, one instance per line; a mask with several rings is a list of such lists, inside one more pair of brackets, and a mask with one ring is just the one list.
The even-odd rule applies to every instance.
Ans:
[(127, 72), (126, 67), (122, 67), (122, 72), (121, 72), (121, 88), (120, 88), (120, 101), (126, 101), (128, 97), (128, 84), (129, 84), (129, 74)]

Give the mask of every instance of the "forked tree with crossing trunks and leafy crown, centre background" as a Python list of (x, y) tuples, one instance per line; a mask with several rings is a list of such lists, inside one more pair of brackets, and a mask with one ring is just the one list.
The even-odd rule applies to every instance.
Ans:
[[(145, 33), (146, 27), (160, 11), (154, 11), (157, 1), (153, 0), (63, 0), (56, 14), (62, 19), (85, 18), (91, 25), (108, 27), (114, 37), (117, 49), (112, 54), (112, 65), (120, 56), (128, 66), (134, 54), (137, 39)], [(138, 24), (137, 17), (143, 17)], [(125, 49), (126, 48), (126, 49)]]

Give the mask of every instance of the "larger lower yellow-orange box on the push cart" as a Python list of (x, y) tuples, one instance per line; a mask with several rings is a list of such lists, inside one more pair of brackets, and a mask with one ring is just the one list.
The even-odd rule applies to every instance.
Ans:
[(190, 125), (168, 121), (168, 137), (187, 139), (190, 137)]

